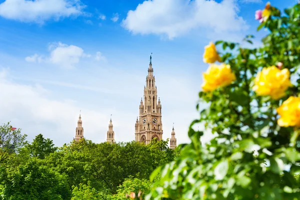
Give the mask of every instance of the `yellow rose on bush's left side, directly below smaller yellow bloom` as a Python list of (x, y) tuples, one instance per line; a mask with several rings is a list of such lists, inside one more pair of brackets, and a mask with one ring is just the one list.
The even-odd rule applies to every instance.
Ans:
[(218, 87), (229, 85), (236, 79), (232, 73), (229, 64), (211, 64), (208, 69), (203, 72), (203, 83), (201, 85), (203, 91), (212, 91)]

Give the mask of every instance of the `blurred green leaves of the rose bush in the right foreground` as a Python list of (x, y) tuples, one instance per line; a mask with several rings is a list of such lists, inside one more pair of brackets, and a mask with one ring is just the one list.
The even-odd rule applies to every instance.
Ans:
[[(236, 81), (212, 92), (199, 92), (200, 100), (209, 106), (200, 110), (200, 118), (189, 127), (191, 143), (181, 146), (174, 161), (153, 171), (151, 180), (157, 174), (161, 177), (146, 199), (281, 200), (300, 196), (296, 175), (300, 172), (299, 129), (280, 127), (276, 113), (288, 96), (300, 94), (300, 4), (285, 9), (284, 16), (276, 8), (271, 11), (272, 16), (259, 26), (269, 30), (263, 46), (248, 49), (238, 43), (216, 42), (227, 50), (221, 59), (231, 66)], [(245, 41), (251, 43), (252, 37), (246, 36)], [(279, 100), (257, 96), (251, 89), (257, 72), (277, 62), (298, 78), (295, 85)], [(195, 123), (204, 123), (216, 134), (209, 144), (201, 146), (203, 132), (193, 130)]]

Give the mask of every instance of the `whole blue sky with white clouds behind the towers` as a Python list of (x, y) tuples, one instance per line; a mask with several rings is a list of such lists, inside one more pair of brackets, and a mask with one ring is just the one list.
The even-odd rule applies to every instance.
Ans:
[[(283, 9), (296, 0), (272, 0)], [(172, 123), (188, 142), (207, 64), (209, 41), (256, 36), (265, 0), (0, 0), (0, 123), (11, 121), (31, 141), (42, 133), (56, 145), (75, 134), (134, 139), (149, 55), (162, 103), (163, 138)], [(201, 128), (201, 127), (200, 127)], [(206, 133), (202, 140), (210, 138)]]

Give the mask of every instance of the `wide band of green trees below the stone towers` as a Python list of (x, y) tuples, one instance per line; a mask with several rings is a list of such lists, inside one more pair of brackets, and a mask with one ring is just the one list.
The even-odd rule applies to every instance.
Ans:
[[(24, 138), (19, 130), (17, 136)], [(96, 144), (83, 138), (57, 148), (38, 134), (22, 144), (0, 165), (0, 199), (123, 199), (130, 188), (144, 195), (151, 172), (175, 156), (163, 140)]]

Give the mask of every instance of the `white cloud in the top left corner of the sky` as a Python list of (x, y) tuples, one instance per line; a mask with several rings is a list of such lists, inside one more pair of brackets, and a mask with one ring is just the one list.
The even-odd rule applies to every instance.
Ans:
[(50, 18), (82, 14), (83, 7), (80, 0), (5, 0), (0, 4), (0, 16), (43, 23)]

